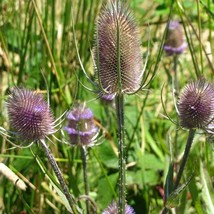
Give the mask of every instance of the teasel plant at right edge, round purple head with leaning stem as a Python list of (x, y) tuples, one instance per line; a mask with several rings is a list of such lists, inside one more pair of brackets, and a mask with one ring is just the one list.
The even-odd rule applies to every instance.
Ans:
[(191, 178), (189, 178), (185, 184), (179, 187), (196, 130), (200, 129), (205, 133), (214, 134), (214, 84), (207, 82), (203, 77), (197, 81), (188, 83), (182, 90), (176, 107), (179, 125), (181, 128), (187, 129), (189, 134), (181, 165), (174, 183), (173, 165), (170, 167), (171, 169), (169, 168), (166, 186), (170, 183), (171, 186), (165, 186), (165, 208), (162, 211), (163, 214), (167, 213), (171, 206), (174, 206), (173, 200), (175, 200), (191, 180)]

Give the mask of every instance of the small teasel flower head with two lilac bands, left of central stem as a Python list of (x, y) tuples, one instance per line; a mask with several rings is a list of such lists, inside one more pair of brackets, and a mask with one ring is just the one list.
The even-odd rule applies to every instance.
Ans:
[(67, 116), (68, 126), (65, 127), (72, 145), (91, 146), (98, 133), (93, 113), (83, 105), (75, 107)]

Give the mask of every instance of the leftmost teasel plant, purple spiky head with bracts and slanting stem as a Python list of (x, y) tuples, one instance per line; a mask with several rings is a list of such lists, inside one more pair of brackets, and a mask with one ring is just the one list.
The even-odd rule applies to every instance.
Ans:
[[(48, 158), (60, 183), (62, 192), (67, 199), (67, 202), (64, 201), (66, 208), (74, 214), (82, 213), (74, 197), (70, 194), (62, 172), (45, 142), (45, 139), (51, 141), (49, 135), (54, 135), (57, 131), (57, 128), (61, 124), (60, 120), (64, 114), (54, 121), (49, 101), (46, 102), (41, 93), (18, 87), (11, 89), (11, 93), (6, 101), (6, 107), (11, 130), (6, 131), (1, 128), (1, 134), (6, 137), (13, 146), (18, 148), (29, 148), (35, 142), (38, 142)], [(18, 145), (12, 142), (11, 139), (15, 139), (18, 142), (21, 141), (23, 145)]]

